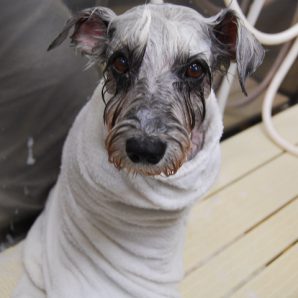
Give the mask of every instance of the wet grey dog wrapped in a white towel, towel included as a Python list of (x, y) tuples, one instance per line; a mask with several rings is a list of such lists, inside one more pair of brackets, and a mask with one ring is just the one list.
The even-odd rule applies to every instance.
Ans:
[(95, 7), (49, 49), (72, 28), (103, 79), (69, 132), (14, 297), (180, 297), (189, 210), (220, 167), (212, 78), (234, 61), (245, 92), (264, 51), (229, 9), (205, 18), (172, 4)]

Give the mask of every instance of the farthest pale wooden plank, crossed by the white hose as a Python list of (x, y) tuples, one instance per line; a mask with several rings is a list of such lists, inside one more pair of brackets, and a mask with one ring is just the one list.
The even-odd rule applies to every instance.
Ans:
[[(277, 130), (293, 144), (298, 143), (297, 119), (298, 104), (273, 118)], [(218, 191), (281, 153), (282, 150), (265, 134), (262, 124), (229, 138), (222, 143), (221, 175), (210, 193)]]

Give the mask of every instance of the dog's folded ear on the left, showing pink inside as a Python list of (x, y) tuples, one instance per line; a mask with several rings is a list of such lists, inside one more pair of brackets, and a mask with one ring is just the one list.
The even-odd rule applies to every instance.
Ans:
[(109, 23), (115, 16), (116, 14), (106, 7), (88, 8), (80, 11), (66, 22), (62, 32), (48, 47), (48, 51), (59, 46), (74, 26), (73, 34), (70, 37), (71, 44), (83, 55), (100, 56), (105, 48)]

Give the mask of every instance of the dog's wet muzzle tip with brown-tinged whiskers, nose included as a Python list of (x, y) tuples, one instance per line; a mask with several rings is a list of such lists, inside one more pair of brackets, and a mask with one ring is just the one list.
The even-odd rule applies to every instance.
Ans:
[[(124, 138), (123, 135), (128, 135)], [(106, 138), (109, 161), (133, 175), (171, 176), (191, 160), (203, 146), (200, 129), (187, 133), (181, 128), (171, 133), (144, 135), (132, 126), (113, 128)]]

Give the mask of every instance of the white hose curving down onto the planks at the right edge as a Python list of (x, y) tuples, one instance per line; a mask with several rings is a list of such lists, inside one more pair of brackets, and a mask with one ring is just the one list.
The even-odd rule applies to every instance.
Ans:
[(275, 94), (280, 84), (282, 83), (284, 77), (286, 76), (292, 64), (294, 63), (297, 55), (298, 55), (298, 38), (296, 38), (295, 43), (290, 49), (287, 57), (285, 58), (282, 65), (280, 66), (279, 70), (277, 71), (275, 77), (273, 78), (267, 90), (267, 93), (265, 95), (265, 99), (263, 102), (262, 117), (265, 124), (265, 129), (269, 134), (269, 136), (273, 139), (273, 141), (275, 141), (280, 147), (282, 147), (286, 151), (298, 156), (298, 147), (292, 145), (277, 133), (277, 131), (274, 129), (272, 119), (271, 119), (271, 109), (272, 109), (272, 103), (273, 103)]

